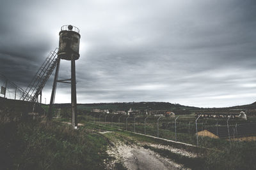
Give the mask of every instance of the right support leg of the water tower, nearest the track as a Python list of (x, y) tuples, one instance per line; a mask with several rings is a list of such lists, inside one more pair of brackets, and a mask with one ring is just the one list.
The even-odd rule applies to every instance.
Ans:
[(77, 103), (76, 103), (76, 62), (72, 56), (71, 60), (71, 105), (72, 105), (72, 127), (77, 127)]

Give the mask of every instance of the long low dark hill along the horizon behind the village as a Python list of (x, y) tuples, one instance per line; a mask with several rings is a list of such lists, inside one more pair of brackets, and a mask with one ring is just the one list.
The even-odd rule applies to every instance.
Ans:
[[(45, 109), (49, 105), (42, 104)], [(56, 108), (65, 108), (69, 110), (71, 108), (70, 103), (54, 104)], [(9, 109), (8, 109), (9, 108)], [(3, 110), (12, 110), (11, 112), (28, 112), (32, 108), (31, 103), (26, 101), (15, 101), (12, 99), (4, 99), (0, 97), (0, 112)], [(178, 114), (195, 113), (198, 110), (210, 110), (210, 111), (227, 111), (227, 110), (256, 110), (256, 102), (252, 104), (245, 104), (241, 106), (232, 106), (228, 108), (197, 108), (193, 106), (184, 106), (181, 104), (172, 104), (167, 102), (130, 102), (130, 103), (92, 103), (92, 104), (77, 104), (77, 110), (79, 111), (92, 111), (93, 109), (110, 110), (110, 111), (127, 111), (130, 108), (132, 110), (139, 110), (141, 112), (166, 110), (173, 111)], [(8, 111), (9, 112), (9, 111)]]

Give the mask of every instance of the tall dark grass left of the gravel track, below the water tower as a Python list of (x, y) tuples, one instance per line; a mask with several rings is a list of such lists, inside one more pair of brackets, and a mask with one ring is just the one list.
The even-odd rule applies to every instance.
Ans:
[(58, 123), (0, 125), (0, 169), (104, 169), (108, 142)]

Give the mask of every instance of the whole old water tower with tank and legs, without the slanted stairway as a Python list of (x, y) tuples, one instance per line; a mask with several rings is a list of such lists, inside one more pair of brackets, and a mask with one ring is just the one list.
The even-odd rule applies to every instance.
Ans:
[[(72, 25), (63, 25), (61, 27), (57, 66), (52, 85), (52, 95), (49, 106), (48, 117), (52, 117), (52, 104), (54, 103), (56, 85), (59, 83), (71, 84), (71, 106), (72, 106), (72, 127), (77, 129), (77, 102), (76, 102), (76, 60), (79, 59), (79, 29)], [(58, 80), (58, 73), (60, 69), (60, 60), (71, 61), (71, 78), (65, 80)]]

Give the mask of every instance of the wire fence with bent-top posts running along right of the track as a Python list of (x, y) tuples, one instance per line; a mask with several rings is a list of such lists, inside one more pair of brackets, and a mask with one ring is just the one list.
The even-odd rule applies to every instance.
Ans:
[(256, 141), (256, 122), (237, 118), (154, 117), (92, 114), (86, 120), (124, 131), (147, 134), (205, 148), (231, 146), (237, 142)]

